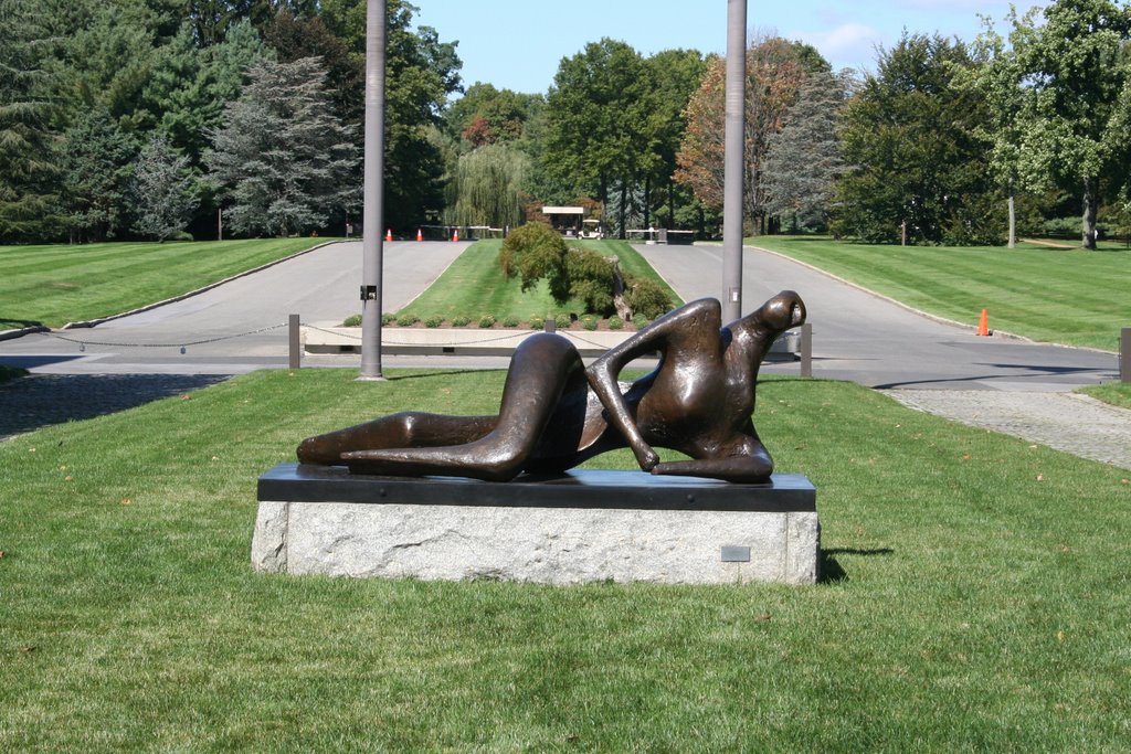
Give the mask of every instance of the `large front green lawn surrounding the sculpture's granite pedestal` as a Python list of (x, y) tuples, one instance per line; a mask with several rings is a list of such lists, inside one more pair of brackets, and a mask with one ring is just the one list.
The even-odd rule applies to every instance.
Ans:
[(1131, 748), (1131, 473), (770, 379), (819, 586), (253, 573), (256, 479), (300, 439), (490, 411), (503, 378), (391, 374), (259, 372), (0, 443), (0, 751)]

